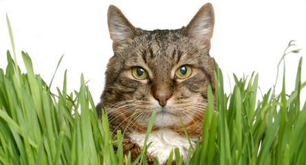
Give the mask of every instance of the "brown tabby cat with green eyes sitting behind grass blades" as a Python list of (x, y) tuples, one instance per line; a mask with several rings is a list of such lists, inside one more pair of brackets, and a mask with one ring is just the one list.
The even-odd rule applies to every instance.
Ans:
[(99, 118), (107, 109), (113, 137), (127, 128), (124, 154), (131, 151), (133, 161), (142, 152), (155, 109), (148, 164), (153, 164), (153, 157), (165, 164), (174, 148), (186, 159), (190, 144), (179, 118), (195, 146), (202, 135), (209, 83), (215, 98), (214, 62), (209, 55), (215, 24), (212, 5), (203, 5), (186, 27), (177, 30), (135, 28), (114, 5), (109, 6), (107, 19), (114, 55), (96, 106)]

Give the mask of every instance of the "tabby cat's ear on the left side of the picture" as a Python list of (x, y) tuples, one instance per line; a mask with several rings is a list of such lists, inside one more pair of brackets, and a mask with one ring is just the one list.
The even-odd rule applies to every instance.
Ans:
[(115, 5), (109, 6), (107, 23), (109, 25), (109, 34), (113, 40), (113, 48), (127, 43), (129, 39), (133, 39), (134, 36), (138, 35), (138, 30)]

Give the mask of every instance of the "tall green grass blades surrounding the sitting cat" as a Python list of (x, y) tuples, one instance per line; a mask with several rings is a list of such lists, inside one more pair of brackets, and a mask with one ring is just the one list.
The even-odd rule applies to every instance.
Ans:
[[(8, 26), (14, 52), (9, 21)], [(283, 56), (290, 53), (286, 51)], [(28, 54), (22, 52), (26, 74), (21, 74), (13, 54), (14, 59), (8, 52), (6, 72), (0, 69), (0, 164), (146, 164), (146, 150), (135, 162), (123, 155), (124, 133), (118, 131), (118, 139), (111, 139), (107, 114), (103, 112), (102, 122), (98, 119), (83, 75), (80, 89), (67, 94), (65, 73), (62, 90), (57, 88), (55, 94), (50, 91), (52, 83), (34, 74)], [(234, 89), (226, 95), (222, 72), (216, 71), (217, 111), (209, 87), (203, 137), (194, 150), (190, 148), (186, 164), (306, 164), (306, 104), (300, 106), (306, 82), (300, 80), (301, 64), (302, 58), (291, 94), (285, 91), (284, 74), (281, 94), (272, 88), (260, 99), (258, 75), (233, 76)], [(155, 111), (146, 140), (154, 116)], [(169, 155), (182, 164), (179, 150)]]

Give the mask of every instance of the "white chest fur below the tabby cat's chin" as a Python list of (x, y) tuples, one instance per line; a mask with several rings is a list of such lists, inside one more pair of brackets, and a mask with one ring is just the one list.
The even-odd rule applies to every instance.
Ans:
[[(130, 136), (139, 146), (144, 146), (144, 138), (146, 137), (145, 133), (131, 133)], [(190, 139), (193, 146), (195, 146), (196, 140), (197, 139)], [(147, 152), (153, 157), (156, 157), (160, 164), (166, 162), (170, 152), (174, 148), (179, 148), (179, 153), (183, 155), (184, 159), (186, 159), (188, 149), (190, 148), (187, 137), (181, 137), (170, 129), (160, 129), (151, 133), (147, 144), (150, 142), (152, 142), (152, 144), (147, 149)], [(173, 157), (173, 159), (175, 159), (175, 157)]]

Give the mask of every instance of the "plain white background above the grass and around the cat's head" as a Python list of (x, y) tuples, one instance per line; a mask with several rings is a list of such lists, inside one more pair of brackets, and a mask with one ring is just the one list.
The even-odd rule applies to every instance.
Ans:
[[(287, 56), (287, 94), (294, 90), (298, 60), (304, 57), (306, 80), (306, 0), (300, 1), (15, 1), (0, 0), (0, 67), (5, 69), (6, 51), (12, 52), (6, 13), (14, 34), (17, 61), (21, 50), (32, 58), (34, 71), (49, 83), (63, 54), (52, 91), (63, 89), (67, 69), (68, 90), (78, 90), (80, 74), (97, 104), (104, 87), (107, 62), (113, 55), (107, 28), (107, 9), (116, 5), (135, 27), (145, 30), (177, 29), (187, 25), (205, 3), (215, 8), (215, 30), (210, 55), (223, 71), (226, 92), (238, 78), (259, 74), (263, 94), (273, 87), (276, 69), (291, 40), (300, 54)], [(21, 67), (25, 72), (24, 67)], [(283, 71), (283, 67), (280, 68)], [(280, 72), (282, 74), (282, 72)], [(229, 77), (229, 78), (228, 78)], [(281, 89), (278, 78), (276, 94)], [(303, 90), (301, 100), (306, 98)], [(260, 91), (259, 91), (259, 99)]]

